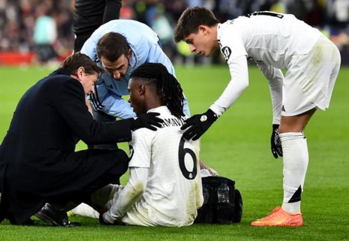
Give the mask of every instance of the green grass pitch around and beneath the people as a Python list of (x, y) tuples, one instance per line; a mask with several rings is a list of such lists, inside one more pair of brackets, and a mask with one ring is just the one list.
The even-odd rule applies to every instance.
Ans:
[[(226, 66), (178, 67), (177, 76), (193, 113), (216, 100), (229, 81)], [(0, 140), (22, 94), (49, 73), (39, 68), (0, 68)], [(349, 69), (342, 68), (330, 108), (317, 111), (306, 128), (309, 166), (302, 197), (304, 226), (249, 226), (282, 200), (282, 160), (270, 153), (271, 104), (267, 81), (250, 67), (250, 86), (202, 138), (201, 154), (220, 175), (236, 181), (244, 200), (242, 222), (182, 228), (99, 226), (97, 220), (73, 217), (83, 226), (0, 225), (0, 240), (349, 240)], [(122, 147), (126, 148), (126, 144)], [(84, 149), (79, 143), (77, 149)], [(122, 182), (127, 181), (127, 176)]]

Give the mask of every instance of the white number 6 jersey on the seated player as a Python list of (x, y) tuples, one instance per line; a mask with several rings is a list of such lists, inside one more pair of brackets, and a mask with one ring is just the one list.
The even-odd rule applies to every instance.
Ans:
[(125, 218), (139, 225), (142, 223), (138, 221), (149, 225), (190, 225), (203, 204), (200, 142), (183, 137), (180, 128), (188, 117), (177, 118), (166, 106), (148, 112), (160, 113), (164, 123), (156, 131), (142, 128), (132, 133), (129, 167), (145, 167), (149, 172), (143, 196)]

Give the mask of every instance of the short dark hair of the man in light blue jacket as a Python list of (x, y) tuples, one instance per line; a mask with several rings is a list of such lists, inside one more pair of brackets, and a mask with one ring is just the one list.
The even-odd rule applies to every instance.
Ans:
[(119, 33), (110, 32), (102, 36), (97, 43), (97, 56), (108, 61), (116, 61), (122, 55), (127, 57), (128, 44), (126, 38)]

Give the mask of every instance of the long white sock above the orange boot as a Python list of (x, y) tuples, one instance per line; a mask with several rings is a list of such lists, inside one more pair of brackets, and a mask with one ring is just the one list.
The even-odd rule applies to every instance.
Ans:
[(300, 132), (282, 133), (280, 140), (283, 151), (282, 208), (287, 212), (297, 213), (300, 212), (300, 197), (308, 166), (308, 147)]

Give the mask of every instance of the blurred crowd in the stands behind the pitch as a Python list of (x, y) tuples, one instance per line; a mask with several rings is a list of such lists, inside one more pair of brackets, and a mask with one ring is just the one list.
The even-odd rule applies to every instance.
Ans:
[[(187, 45), (172, 41), (173, 27), (182, 12), (198, 5), (212, 10), (220, 22), (254, 11), (293, 14), (320, 29), (338, 46), (342, 62), (349, 63), (349, 0), (122, 0), (120, 18), (150, 26), (170, 58), (200, 62), (203, 60), (194, 59)], [(46, 54), (42, 61), (66, 56), (74, 43), (73, 10), (71, 0), (0, 0), (0, 52), (40, 49), (44, 57)], [(40, 45), (51, 47), (37, 48)], [(216, 58), (209, 61), (220, 61)]]

